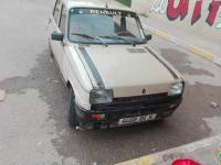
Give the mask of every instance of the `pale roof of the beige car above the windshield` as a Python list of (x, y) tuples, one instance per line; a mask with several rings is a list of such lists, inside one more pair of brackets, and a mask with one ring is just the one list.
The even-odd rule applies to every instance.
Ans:
[[(130, 11), (126, 8), (119, 8), (112, 6), (109, 0), (62, 0), (65, 3), (66, 8), (108, 8), (116, 10)], [(133, 11), (131, 11), (133, 12)]]

